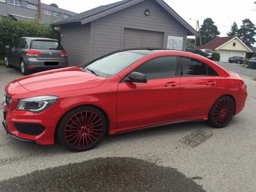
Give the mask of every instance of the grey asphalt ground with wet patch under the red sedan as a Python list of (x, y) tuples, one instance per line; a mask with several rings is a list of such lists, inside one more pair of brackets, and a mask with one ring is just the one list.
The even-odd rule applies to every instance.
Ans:
[[(1, 103), (4, 86), (20, 76), (0, 67)], [(256, 191), (256, 82), (241, 76), (246, 107), (223, 129), (205, 122), (158, 127), (71, 153), (59, 143), (13, 140), (0, 125), (0, 191)]]

